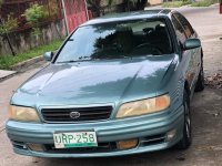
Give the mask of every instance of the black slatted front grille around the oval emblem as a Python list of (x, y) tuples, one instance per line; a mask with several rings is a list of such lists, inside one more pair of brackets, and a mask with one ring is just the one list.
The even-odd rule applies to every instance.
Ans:
[[(70, 113), (78, 112), (79, 117), (73, 118)], [(46, 122), (72, 123), (81, 121), (108, 120), (111, 115), (112, 106), (98, 107), (75, 107), (75, 108), (42, 108), (41, 113)]]

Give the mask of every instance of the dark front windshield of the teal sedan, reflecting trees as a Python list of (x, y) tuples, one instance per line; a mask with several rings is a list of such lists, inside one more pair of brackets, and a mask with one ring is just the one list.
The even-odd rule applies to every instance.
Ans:
[(172, 53), (164, 20), (131, 20), (78, 28), (57, 63)]

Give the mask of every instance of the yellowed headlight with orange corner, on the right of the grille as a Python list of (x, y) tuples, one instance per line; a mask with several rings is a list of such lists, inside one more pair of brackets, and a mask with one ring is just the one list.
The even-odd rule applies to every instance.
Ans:
[(117, 118), (140, 116), (144, 114), (161, 112), (170, 106), (170, 96), (168, 94), (153, 98), (147, 98), (125, 103), (120, 106)]

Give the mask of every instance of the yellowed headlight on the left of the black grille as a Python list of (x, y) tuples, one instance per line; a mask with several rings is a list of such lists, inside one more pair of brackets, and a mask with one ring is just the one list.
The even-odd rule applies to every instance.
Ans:
[(40, 122), (34, 108), (14, 105), (9, 106), (9, 120), (21, 122)]

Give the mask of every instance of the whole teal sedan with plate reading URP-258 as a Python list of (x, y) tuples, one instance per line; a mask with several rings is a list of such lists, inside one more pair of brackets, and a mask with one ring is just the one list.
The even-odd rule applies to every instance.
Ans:
[(191, 145), (203, 52), (179, 12), (91, 20), (44, 58), (51, 63), (11, 98), (7, 133), (16, 153), (104, 157)]

